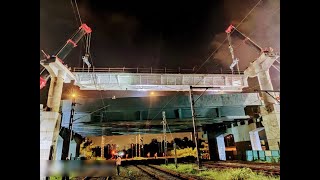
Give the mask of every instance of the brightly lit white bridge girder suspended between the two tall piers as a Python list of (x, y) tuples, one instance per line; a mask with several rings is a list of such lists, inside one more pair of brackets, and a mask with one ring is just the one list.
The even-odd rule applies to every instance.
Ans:
[(76, 77), (75, 85), (81, 90), (188, 91), (190, 86), (209, 86), (214, 88), (208, 91), (241, 92), (242, 88), (248, 87), (247, 80), (242, 74), (118, 72), (73, 72), (73, 74)]

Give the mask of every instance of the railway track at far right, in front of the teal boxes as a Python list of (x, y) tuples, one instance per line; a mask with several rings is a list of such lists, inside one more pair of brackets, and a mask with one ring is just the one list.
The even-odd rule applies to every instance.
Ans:
[(203, 166), (207, 168), (216, 168), (216, 169), (230, 169), (230, 168), (250, 168), (254, 172), (262, 172), (265, 175), (280, 175), (280, 166), (270, 166), (270, 165), (261, 165), (261, 164), (245, 164), (245, 163), (203, 163)]

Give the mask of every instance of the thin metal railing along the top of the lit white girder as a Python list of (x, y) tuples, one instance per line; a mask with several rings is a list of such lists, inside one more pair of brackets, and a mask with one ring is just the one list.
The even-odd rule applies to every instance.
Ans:
[[(169, 69), (169, 68), (82, 68), (82, 67), (75, 67), (73, 68), (73, 72), (110, 72), (110, 73), (155, 73), (155, 74), (194, 74), (197, 72), (198, 69), (192, 68), (192, 69), (184, 69), (184, 68), (177, 68), (177, 69)], [(243, 74), (244, 71), (231, 71), (226, 69), (218, 69), (214, 71), (198, 71), (197, 74)]]

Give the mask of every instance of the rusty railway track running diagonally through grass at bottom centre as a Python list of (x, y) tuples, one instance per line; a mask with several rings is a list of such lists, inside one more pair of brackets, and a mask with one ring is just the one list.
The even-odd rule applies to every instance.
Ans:
[(177, 175), (170, 174), (167, 171), (160, 170), (158, 168), (147, 166), (147, 165), (137, 165), (137, 167), (142, 170), (143, 172), (147, 173), (148, 175), (152, 176), (153, 178), (159, 179), (159, 180), (181, 180), (184, 178), (178, 177)]

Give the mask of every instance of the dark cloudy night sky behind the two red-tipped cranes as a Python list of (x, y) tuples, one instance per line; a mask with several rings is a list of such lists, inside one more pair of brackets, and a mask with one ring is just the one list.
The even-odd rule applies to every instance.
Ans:
[[(40, 1), (39, 52), (43, 49), (55, 54), (80, 26), (71, 2), (75, 8), (74, 0)], [(82, 21), (93, 30), (95, 67), (193, 68), (200, 67), (226, 38), (224, 31), (229, 24), (237, 26), (258, 2), (78, 0), (77, 4)], [(261, 47), (280, 53), (280, 1), (261, 1), (238, 29)], [(242, 40), (232, 38), (240, 70), (244, 70), (258, 54)], [(65, 62), (82, 67), (83, 55), (80, 43)], [(225, 42), (201, 70), (229, 70), (231, 63)], [(270, 73), (274, 89), (279, 90), (279, 72), (271, 68)]]

